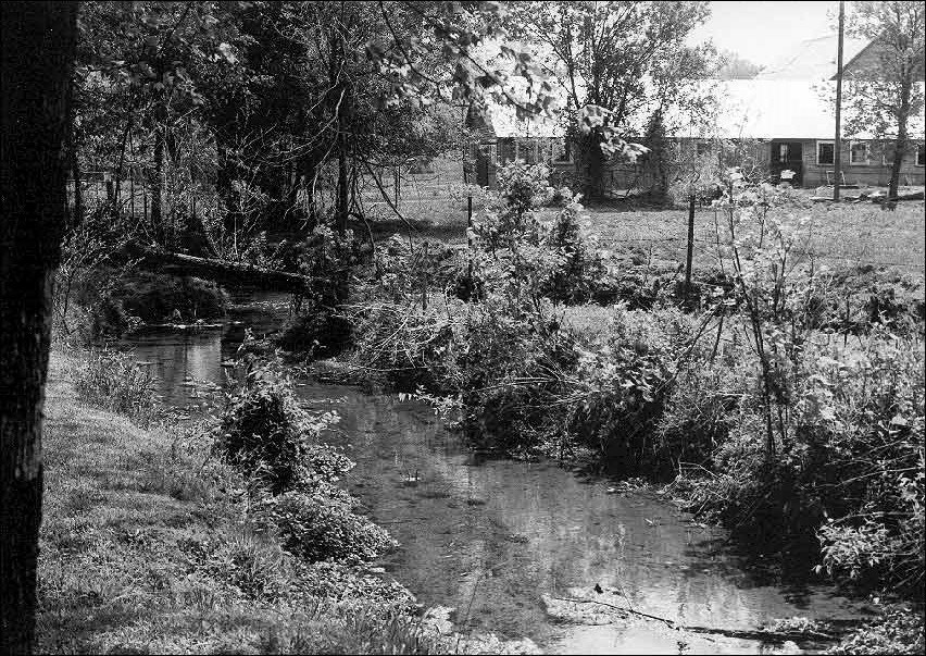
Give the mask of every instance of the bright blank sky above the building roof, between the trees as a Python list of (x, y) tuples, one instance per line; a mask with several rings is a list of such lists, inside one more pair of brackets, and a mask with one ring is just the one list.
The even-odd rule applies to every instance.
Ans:
[[(768, 65), (794, 44), (833, 34), (839, 2), (711, 2), (711, 17), (697, 27), (690, 44), (710, 38), (756, 64)], [(829, 12), (834, 18), (827, 15)]]

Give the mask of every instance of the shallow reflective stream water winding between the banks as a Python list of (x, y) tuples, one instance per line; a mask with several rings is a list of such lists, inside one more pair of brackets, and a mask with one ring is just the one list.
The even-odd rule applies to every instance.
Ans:
[[(124, 341), (151, 362), (167, 403), (201, 403), (222, 384), (222, 363), (245, 325), (260, 334), (286, 313), (279, 296), (237, 300), (221, 329), (149, 331)], [(454, 608), (455, 630), (527, 636), (547, 653), (789, 653), (797, 645), (719, 635), (686, 644), (661, 622), (583, 612), (606, 611), (596, 604), (565, 604), (572, 610), (562, 612), (559, 599), (623, 601), (684, 624), (734, 630), (792, 616), (860, 616), (858, 603), (830, 587), (756, 573), (723, 531), (655, 494), (621, 493), (612, 481), (552, 462), (479, 458), (416, 403), (316, 384), (298, 393), (341, 417), (327, 440), (358, 463), (347, 486), (401, 545), (378, 565), (425, 606)]]

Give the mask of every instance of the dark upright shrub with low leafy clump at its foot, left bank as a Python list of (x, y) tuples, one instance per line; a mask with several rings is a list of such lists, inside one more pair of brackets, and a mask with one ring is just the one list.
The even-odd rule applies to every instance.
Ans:
[(215, 445), (258, 483), (254, 519), (278, 535), (284, 548), (308, 561), (360, 564), (395, 546), (388, 533), (354, 512), (355, 502), (335, 483), (353, 467), (321, 442), (337, 416), (303, 409), (278, 360), (242, 345), (240, 385), (229, 395)]

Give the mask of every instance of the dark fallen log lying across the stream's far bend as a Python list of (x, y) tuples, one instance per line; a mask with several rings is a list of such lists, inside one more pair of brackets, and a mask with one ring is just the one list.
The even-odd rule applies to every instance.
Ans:
[(162, 270), (165, 267), (180, 269), (195, 275), (218, 279), (222, 282), (236, 282), (259, 285), (280, 292), (301, 292), (312, 279), (299, 273), (264, 269), (247, 262), (232, 262), (211, 258), (199, 258), (180, 252), (167, 252), (151, 247), (129, 244), (125, 250), (129, 257), (138, 258), (140, 267)]

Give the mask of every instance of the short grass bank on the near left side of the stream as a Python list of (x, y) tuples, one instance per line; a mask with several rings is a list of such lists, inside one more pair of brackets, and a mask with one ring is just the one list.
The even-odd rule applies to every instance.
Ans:
[(75, 366), (52, 354), (39, 653), (427, 648), (395, 584), (295, 559), (249, 520), (243, 481), (201, 434), (84, 404)]

